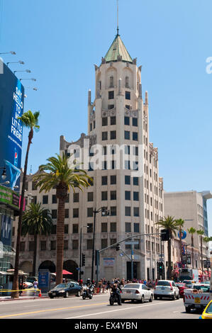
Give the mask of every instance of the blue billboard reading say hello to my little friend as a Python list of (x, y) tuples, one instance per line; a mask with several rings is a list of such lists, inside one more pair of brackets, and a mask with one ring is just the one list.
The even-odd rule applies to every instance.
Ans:
[(20, 185), (24, 88), (13, 72), (2, 64), (0, 72), (0, 167), (6, 166), (9, 187)]

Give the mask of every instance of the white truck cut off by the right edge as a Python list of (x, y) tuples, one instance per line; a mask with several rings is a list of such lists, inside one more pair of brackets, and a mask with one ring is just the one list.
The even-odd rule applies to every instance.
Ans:
[(191, 309), (203, 310), (212, 300), (212, 274), (209, 283), (194, 283), (193, 288), (184, 290), (184, 307), (186, 313)]

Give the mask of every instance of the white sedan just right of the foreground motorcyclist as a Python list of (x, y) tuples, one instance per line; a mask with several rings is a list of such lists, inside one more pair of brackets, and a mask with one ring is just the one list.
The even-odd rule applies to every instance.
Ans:
[(144, 303), (145, 300), (152, 302), (153, 293), (143, 283), (127, 283), (121, 289), (121, 303), (125, 300), (139, 300), (140, 303)]

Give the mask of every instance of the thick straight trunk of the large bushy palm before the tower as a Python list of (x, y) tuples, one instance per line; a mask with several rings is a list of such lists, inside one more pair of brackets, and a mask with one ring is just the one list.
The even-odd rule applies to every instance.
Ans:
[(64, 249), (65, 199), (59, 198), (57, 211), (57, 267), (56, 285), (62, 283)]

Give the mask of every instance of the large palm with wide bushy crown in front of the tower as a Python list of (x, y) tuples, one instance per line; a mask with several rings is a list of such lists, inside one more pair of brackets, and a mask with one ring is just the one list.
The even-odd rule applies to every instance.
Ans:
[(56, 188), (56, 197), (58, 199), (56, 283), (59, 284), (62, 283), (65, 201), (70, 188), (74, 191), (74, 188), (77, 187), (82, 191), (82, 187), (90, 186), (88, 180), (91, 181), (91, 178), (86, 171), (77, 169), (76, 164), (69, 166), (69, 157), (64, 153), (62, 157), (58, 154), (56, 155), (57, 157), (48, 159), (48, 164), (40, 166), (40, 174), (35, 175), (33, 179), (38, 181), (37, 186), (40, 186), (40, 192), (48, 192), (53, 187)]

